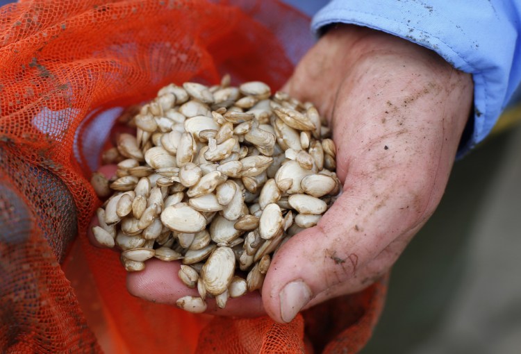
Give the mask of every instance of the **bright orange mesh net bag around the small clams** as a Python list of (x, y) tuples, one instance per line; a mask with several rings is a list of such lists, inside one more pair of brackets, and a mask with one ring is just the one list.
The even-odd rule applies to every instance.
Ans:
[(88, 180), (120, 108), (167, 83), (261, 80), (274, 89), (310, 46), (275, 1), (38, 0), (0, 8), (2, 353), (354, 353), (382, 280), (287, 325), (213, 318), (126, 292), (113, 251), (85, 230)]

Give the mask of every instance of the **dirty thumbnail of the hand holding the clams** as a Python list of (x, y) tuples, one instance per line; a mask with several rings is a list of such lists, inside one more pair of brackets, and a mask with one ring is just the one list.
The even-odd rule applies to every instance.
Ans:
[(295, 280), (283, 287), (279, 300), (281, 301), (282, 320), (289, 323), (311, 300), (311, 290), (303, 280)]

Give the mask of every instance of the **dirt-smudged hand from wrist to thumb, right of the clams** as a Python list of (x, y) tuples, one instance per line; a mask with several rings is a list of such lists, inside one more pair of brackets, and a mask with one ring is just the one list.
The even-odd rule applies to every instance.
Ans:
[(472, 103), (472, 78), (392, 35), (331, 29), (286, 87), (329, 118), (343, 194), (272, 260), (263, 305), (288, 322), (386, 273), (436, 209)]

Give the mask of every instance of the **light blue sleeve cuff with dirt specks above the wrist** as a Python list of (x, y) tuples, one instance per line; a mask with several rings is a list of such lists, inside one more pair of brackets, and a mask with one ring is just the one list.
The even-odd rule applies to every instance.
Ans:
[(474, 126), (458, 155), (483, 140), (521, 81), (521, 0), (333, 0), (313, 31), (367, 26), (436, 51), (474, 78)]

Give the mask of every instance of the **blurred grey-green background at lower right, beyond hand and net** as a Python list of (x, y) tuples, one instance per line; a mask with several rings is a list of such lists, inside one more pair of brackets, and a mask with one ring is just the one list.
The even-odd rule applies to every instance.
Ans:
[(520, 254), (521, 127), (511, 126), (454, 165), (392, 269), (362, 353), (521, 353)]

